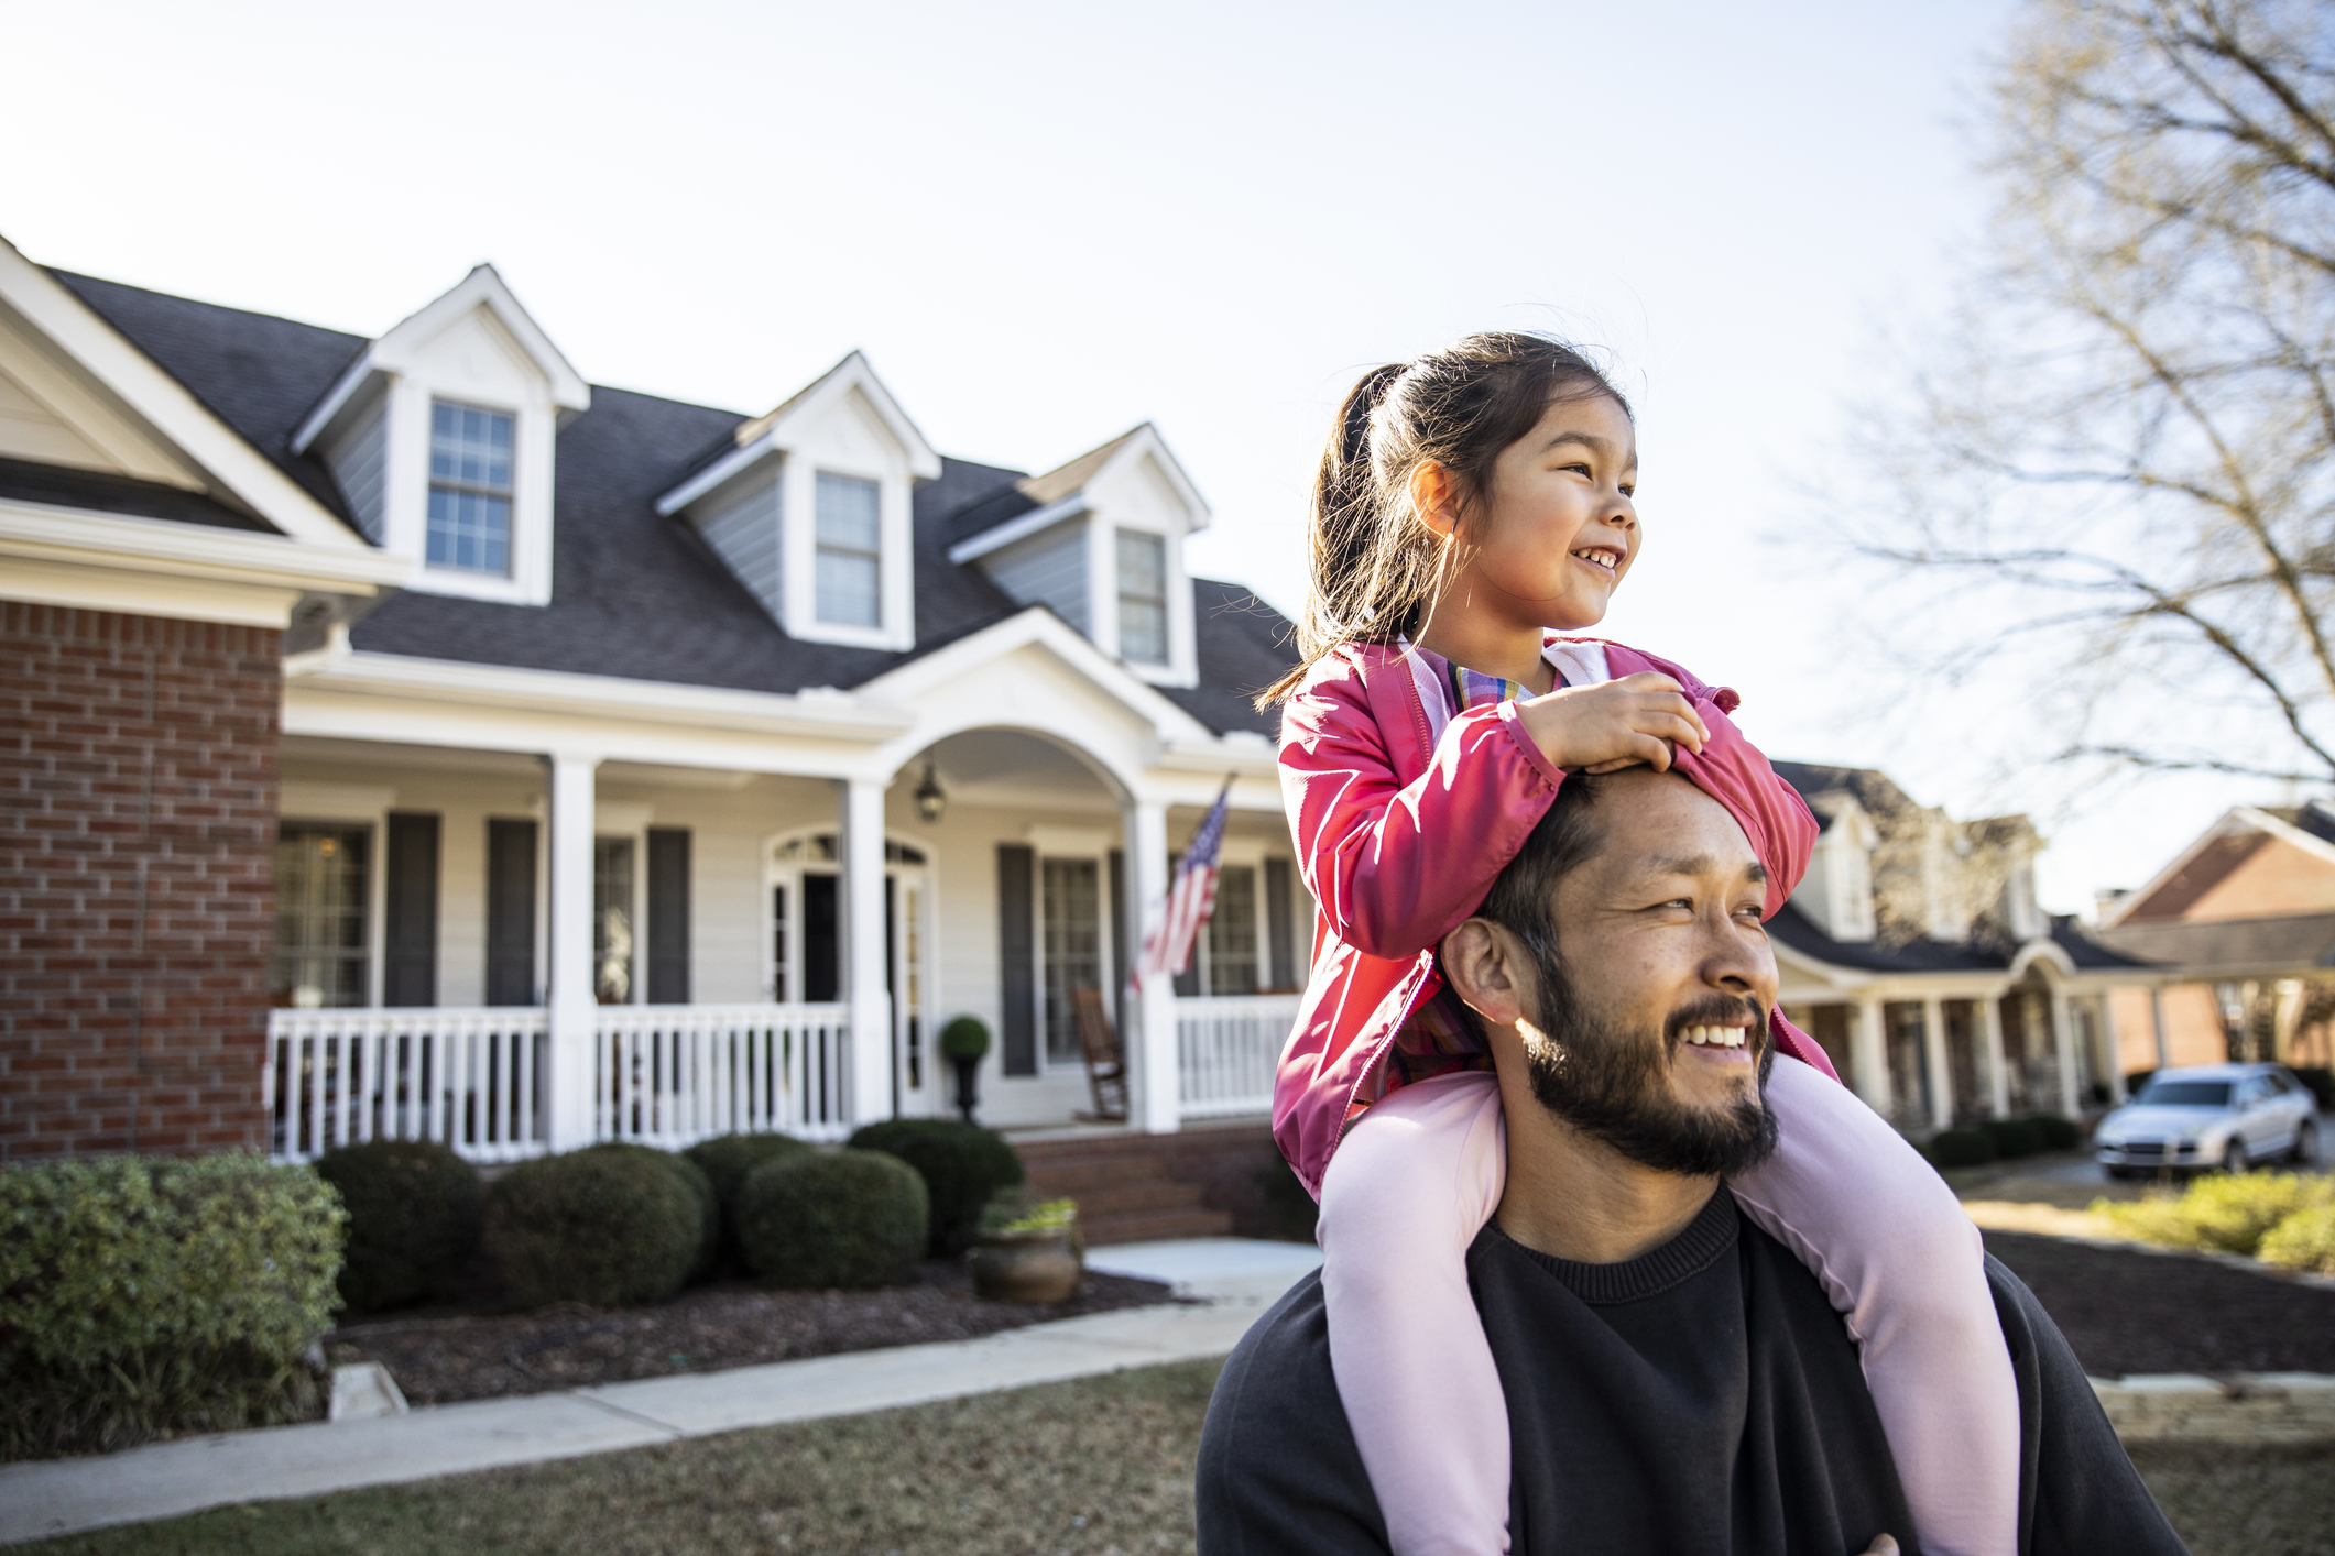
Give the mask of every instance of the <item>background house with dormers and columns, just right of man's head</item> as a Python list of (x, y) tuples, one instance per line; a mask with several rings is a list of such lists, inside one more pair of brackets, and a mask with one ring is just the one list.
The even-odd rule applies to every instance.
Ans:
[(2078, 1117), (2125, 1096), (2118, 989), (2155, 968), (2036, 907), (2024, 816), (1952, 821), (1868, 768), (1777, 763), (1824, 830), (1768, 935), (1784, 1010), (1882, 1117)]

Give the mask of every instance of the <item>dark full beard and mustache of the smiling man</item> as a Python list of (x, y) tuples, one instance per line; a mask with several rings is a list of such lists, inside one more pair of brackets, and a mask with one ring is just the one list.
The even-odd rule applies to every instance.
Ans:
[[(1534, 952), (1541, 1033), (1525, 1043), (1525, 1075), (1543, 1108), (1620, 1155), (1665, 1173), (1735, 1176), (1775, 1150), (1765, 1106), (1775, 1043), (1758, 1001), (1714, 994), (1674, 1010), (1663, 1031), (1630, 1031), (1590, 1010), (1555, 952)], [(1742, 1026), (1758, 1054), (1758, 1092), (1719, 1110), (1691, 1108), (1670, 1089), (1670, 1066), (1691, 1026)]]

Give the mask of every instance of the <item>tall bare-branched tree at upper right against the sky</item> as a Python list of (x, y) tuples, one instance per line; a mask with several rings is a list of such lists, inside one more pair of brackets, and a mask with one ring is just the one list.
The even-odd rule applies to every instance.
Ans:
[(2036, 0), (1992, 135), (1859, 548), (2048, 670), (2045, 756), (2335, 779), (2335, 7)]

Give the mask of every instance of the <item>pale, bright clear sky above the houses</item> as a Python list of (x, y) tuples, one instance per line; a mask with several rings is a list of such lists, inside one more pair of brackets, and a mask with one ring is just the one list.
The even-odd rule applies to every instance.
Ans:
[(1775, 756), (2034, 814), (2073, 912), (2288, 795), (2010, 765), (2001, 679), (1905, 677), (1821, 520), (1903, 385), (1884, 341), (1982, 240), (2013, 14), (0, 0), (0, 236), (369, 336), (493, 261), (593, 383), (759, 413), (859, 348), (992, 464), (1149, 420), (1214, 511), (1193, 569), (1284, 611), (1354, 378), (1548, 329), (1639, 415), (1646, 548), (1599, 630), (1737, 686)]

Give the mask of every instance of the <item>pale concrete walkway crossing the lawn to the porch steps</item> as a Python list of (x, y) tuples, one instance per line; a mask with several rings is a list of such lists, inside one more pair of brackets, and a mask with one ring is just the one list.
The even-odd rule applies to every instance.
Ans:
[(1319, 1262), (1322, 1255), (1301, 1243), (1231, 1236), (1097, 1248), (1088, 1257), (1095, 1269), (1168, 1281), (1179, 1297), (1196, 1297), (1198, 1304), (1088, 1313), (932, 1346), (855, 1351), (5, 1465), (0, 1544), (170, 1519), (203, 1507), (532, 1465), (750, 1425), (852, 1416), (1224, 1355), (1266, 1306)]

